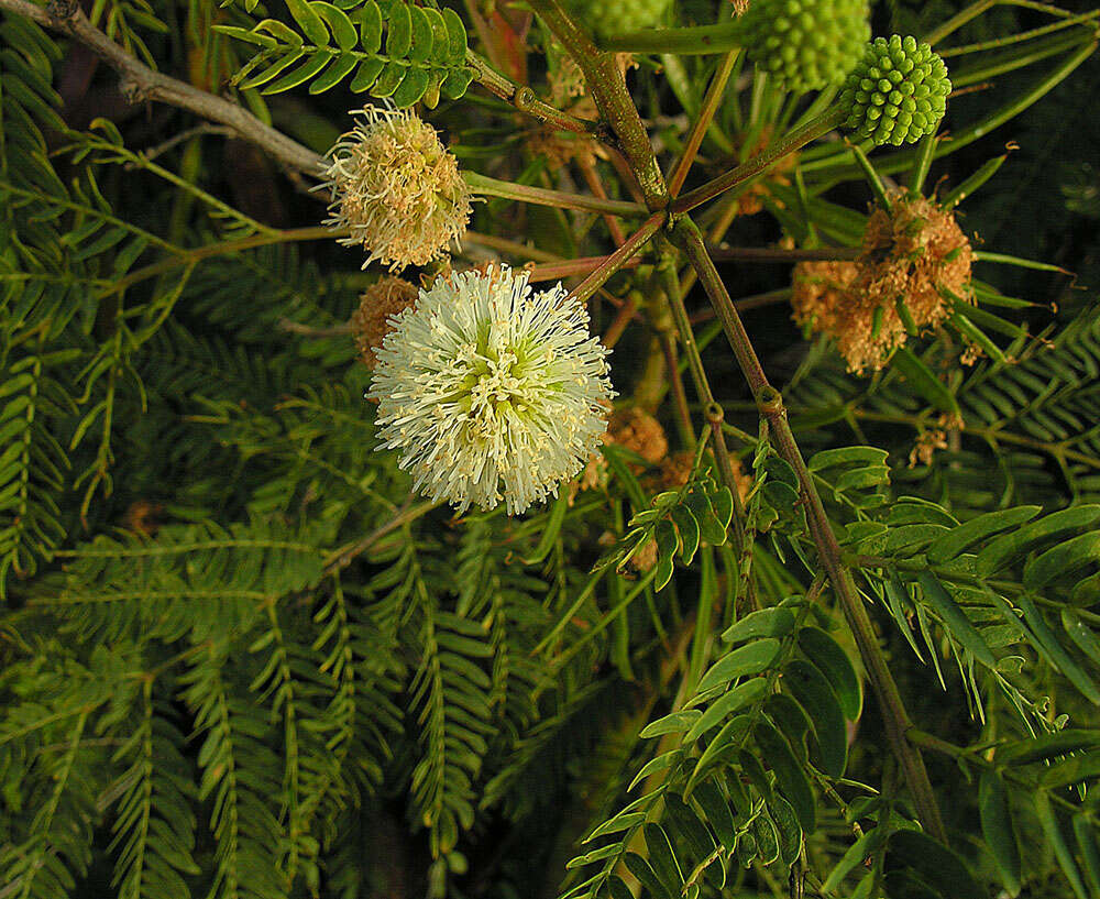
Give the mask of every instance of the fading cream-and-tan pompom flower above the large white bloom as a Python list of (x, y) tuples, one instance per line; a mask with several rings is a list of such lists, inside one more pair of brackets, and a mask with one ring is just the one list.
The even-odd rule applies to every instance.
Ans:
[(470, 188), (436, 130), (408, 110), (371, 107), (329, 152), (332, 190), (324, 223), (350, 231), (392, 272), (447, 255), (470, 221)]

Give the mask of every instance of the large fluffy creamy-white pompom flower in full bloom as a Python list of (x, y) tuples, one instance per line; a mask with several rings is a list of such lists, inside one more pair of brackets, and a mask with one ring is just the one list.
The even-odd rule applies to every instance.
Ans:
[(558, 285), (507, 266), (438, 278), (394, 320), (369, 397), (414, 489), (509, 515), (557, 496), (606, 427), (608, 350)]

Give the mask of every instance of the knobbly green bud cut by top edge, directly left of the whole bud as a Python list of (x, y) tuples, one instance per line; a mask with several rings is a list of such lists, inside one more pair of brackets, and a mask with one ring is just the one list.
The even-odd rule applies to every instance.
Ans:
[(838, 84), (871, 36), (867, 0), (752, 0), (743, 44), (780, 87), (803, 92)]

